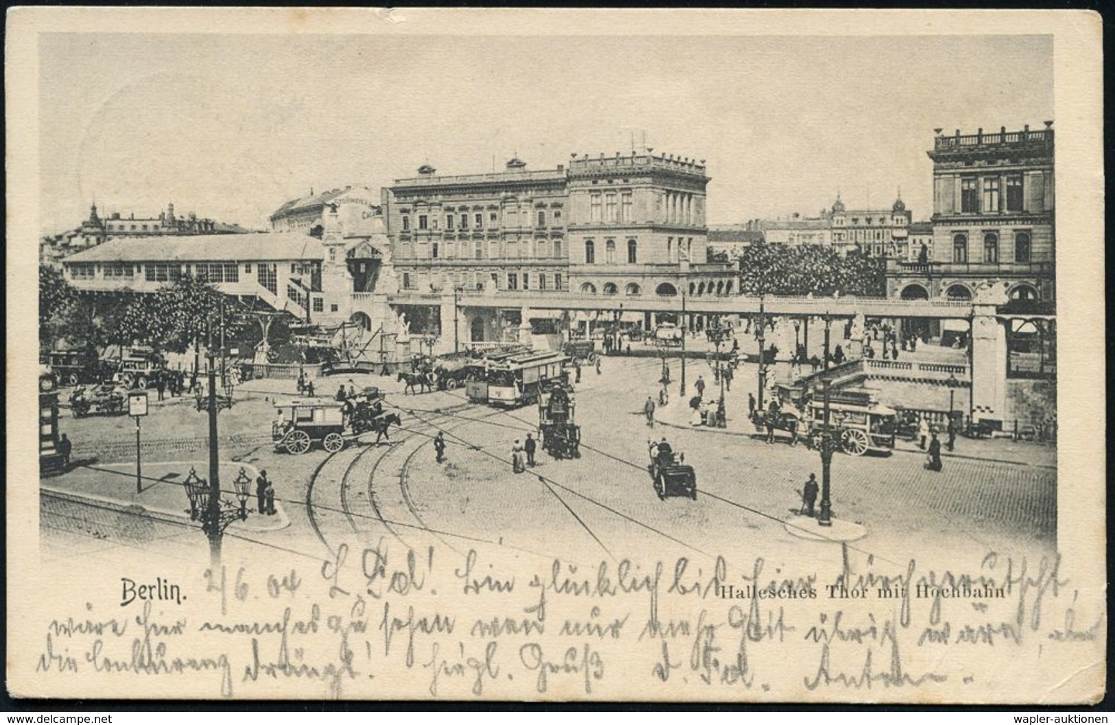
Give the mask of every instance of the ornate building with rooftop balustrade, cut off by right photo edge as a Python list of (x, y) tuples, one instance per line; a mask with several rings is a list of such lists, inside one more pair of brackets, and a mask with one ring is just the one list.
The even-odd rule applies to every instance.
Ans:
[(892, 261), (888, 294), (971, 299), (1001, 287), (1009, 300), (1054, 300), (1054, 135), (1040, 130), (944, 136), (933, 149), (933, 243), (927, 261)]

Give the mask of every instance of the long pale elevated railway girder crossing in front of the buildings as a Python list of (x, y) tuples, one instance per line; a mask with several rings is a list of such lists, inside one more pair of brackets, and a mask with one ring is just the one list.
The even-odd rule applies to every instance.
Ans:
[[(392, 306), (438, 306), (443, 297), (438, 293), (390, 294)], [(458, 297), (462, 309), (512, 309), (537, 310), (611, 310), (624, 312), (670, 312), (681, 311), (681, 296), (660, 297), (652, 294), (555, 294), (554, 292), (468, 292)], [(686, 297), (687, 315), (753, 315), (759, 311), (758, 297)], [(972, 315), (971, 302), (963, 300), (902, 300), (869, 297), (807, 298), (765, 297), (763, 309), (767, 315), (821, 317), (917, 317), (933, 319), (963, 319)]]

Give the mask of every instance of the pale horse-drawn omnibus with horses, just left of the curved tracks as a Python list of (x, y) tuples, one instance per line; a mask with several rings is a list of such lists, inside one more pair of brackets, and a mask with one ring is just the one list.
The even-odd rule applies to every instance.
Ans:
[(337, 453), (348, 441), (371, 432), (377, 434), (378, 443), (381, 437), (387, 436), (391, 425), (401, 425), (403, 420), (397, 413), (384, 412), (378, 390), (368, 390), (358, 393), (343, 403), (328, 398), (277, 402), (279, 416), (271, 428), (274, 450), (301, 455), (314, 443), (320, 443), (329, 453)]

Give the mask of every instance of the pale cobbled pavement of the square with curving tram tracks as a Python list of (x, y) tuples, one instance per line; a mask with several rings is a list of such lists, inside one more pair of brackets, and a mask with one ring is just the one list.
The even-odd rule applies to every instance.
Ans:
[[(244, 451), (229, 453), (268, 468), (291, 520), (282, 531), (254, 534), (260, 543), (253, 545), (322, 557), (334, 542), (352, 538), (414, 547), (443, 542), (458, 552), (472, 542), (492, 542), (523, 557), (576, 555), (585, 562), (648, 553), (663, 560), (685, 555), (701, 566), (716, 554), (762, 554), (779, 566), (801, 558), (838, 561), (840, 547), (796, 538), (782, 523), (799, 505), (796, 490), (807, 475), (820, 478), (817, 453), (711, 431), (650, 429), (641, 408), (657, 392), (659, 365), (652, 358), (607, 358), (600, 375), (584, 368), (576, 393), (582, 457), (553, 461), (540, 450), (539, 465), (524, 474), (512, 473), (510, 452), (514, 439), (535, 428), (534, 408), (501, 412), (467, 405), (459, 390), (401, 396), (380, 378), (356, 380), (381, 384), (389, 403), (403, 408), (405, 431), (392, 434), (397, 443), (290, 456), (245, 441)], [(234, 408), (239, 417), (221, 414), (230, 435), (259, 435), (236, 427), (248, 422), (269, 425), (271, 403), (264, 398), (274, 395), (274, 381), (253, 383), (259, 387), (244, 389)], [(183, 419), (204, 418), (178, 407)], [(182, 423), (167, 416), (159, 425), (173, 429)], [(127, 432), (104, 428), (108, 441)], [(442, 464), (430, 445), (437, 428), (447, 432), (449, 444)], [(90, 437), (94, 429), (87, 428)], [(653, 491), (647, 442), (663, 435), (697, 471), (696, 502), (660, 501)], [(1048, 553), (1054, 543), (1050, 467), (977, 453), (947, 458), (944, 471), (933, 473), (920, 455), (837, 454), (832, 476), (835, 515), (869, 532), (853, 548), (896, 564), (925, 557), (978, 562), (988, 551)]]

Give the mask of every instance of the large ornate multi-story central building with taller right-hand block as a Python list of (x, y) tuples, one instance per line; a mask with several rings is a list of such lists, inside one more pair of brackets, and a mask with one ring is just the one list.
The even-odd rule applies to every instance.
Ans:
[(649, 153), (543, 171), (512, 158), (494, 174), (425, 165), (382, 205), (404, 290), (677, 294), (692, 282), (694, 294), (730, 294), (735, 270), (705, 263), (708, 181), (694, 160)]

